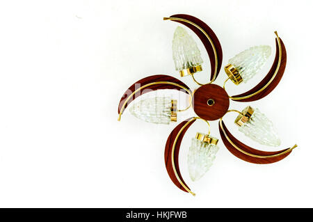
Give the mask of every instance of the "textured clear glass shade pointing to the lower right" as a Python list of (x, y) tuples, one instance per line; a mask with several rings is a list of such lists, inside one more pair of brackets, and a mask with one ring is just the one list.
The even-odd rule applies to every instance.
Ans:
[(280, 145), (273, 123), (259, 109), (255, 109), (249, 120), (239, 127), (239, 131), (260, 144)]

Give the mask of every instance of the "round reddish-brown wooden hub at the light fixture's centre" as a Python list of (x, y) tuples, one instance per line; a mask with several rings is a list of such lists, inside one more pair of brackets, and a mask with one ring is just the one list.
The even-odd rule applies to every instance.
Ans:
[(193, 94), (193, 110), (204, 120), (218, 120), (230, 106), (226, 91), (215, 84), (201, 86)]

